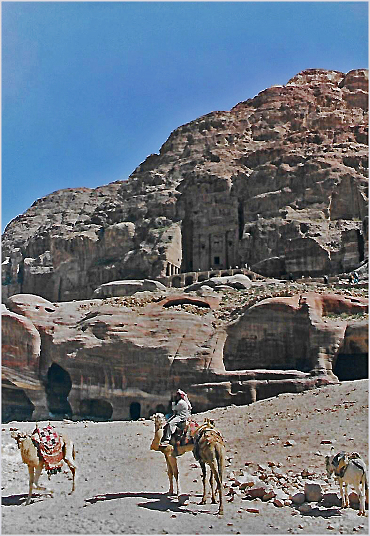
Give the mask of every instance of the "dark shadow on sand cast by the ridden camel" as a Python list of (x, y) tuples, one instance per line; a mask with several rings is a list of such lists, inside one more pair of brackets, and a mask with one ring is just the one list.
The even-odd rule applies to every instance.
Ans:
[(168, 495), (167, 493), (106, 493), (104, 495), (96, 495), (85, 500), (85, 503), (95, 504), (99, 501), (112, 501), (114, 499), (123, 499), (123, 498), (144, 498), (149, 499), (145, 503), (137, 503), (137, 506), (140, 508), (148, 508), (149, 510), (157, 510), (160, 512), (165, 512), (171, 510), (172, 512), (182, 512), (182, 513), (191, 513), (196, 515), (197, 513), (212, 513), (208, 510), (188, 510), (184, 505), (180, 504), (176, 499)]

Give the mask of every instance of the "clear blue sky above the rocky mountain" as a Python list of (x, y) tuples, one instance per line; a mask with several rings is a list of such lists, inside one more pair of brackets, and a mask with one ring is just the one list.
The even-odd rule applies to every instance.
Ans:
[(299, 71), (367, 67), (367, 2), (2, 2), (2, 229)]

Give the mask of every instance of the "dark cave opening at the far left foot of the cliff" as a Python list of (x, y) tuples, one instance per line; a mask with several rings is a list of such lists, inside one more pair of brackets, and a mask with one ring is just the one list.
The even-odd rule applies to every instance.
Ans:
[(30, 421), (35, 406), (17, 385), (5, 380), (1, 386), (1, 422)]

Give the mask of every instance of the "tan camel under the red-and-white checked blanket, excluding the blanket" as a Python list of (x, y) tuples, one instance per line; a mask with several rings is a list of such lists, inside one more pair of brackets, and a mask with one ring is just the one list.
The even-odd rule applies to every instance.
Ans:
[[(45, 488), (44, 486), (38, 485), (38, 479), (40, 478), (45, 463), (41, 455), (38, 453), (37, 446), (35, 446), (31, 436), (21, 431), (13, 431), (12, 438), (15, 439), (17, 442), (17, 446), (20, 450), (20, 455), (22, 457), (23, 463), (28, 466), (29, 489), (25, 504), (30, 503), (33, 487), (35, 487), (35, 489), (47, 491), (52, 494), (52, 490)], [(71, 495), (71, 493), (74, 492), (74, 479), (76, 472), (76, 465), (74, 463), (75, 449), (72, 441), (68, 439), (66, 435), (60, 435), (60, 438), (62, 444), (63, 459), (70, 468), (73, 477), (72, 491), (69, 493), (69, 495)]]

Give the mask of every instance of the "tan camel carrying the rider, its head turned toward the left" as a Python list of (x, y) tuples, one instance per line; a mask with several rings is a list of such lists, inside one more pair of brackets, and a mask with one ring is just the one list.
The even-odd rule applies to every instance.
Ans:
[(163, 427), (166, 424), (165, 416), (163, 413), (155, 413), (151, 416), (151, 420), (154, 421), (154, 437), (151, 442), (151, 450), (159, 450), (163, 452), (166, 458), (167, 474), (169, 480), (168, 494), (173, 495), (173, 477), (176, 481), (176, 495), (179, 495), (179, 467), (176, 457), (182, 456), (185, 452), (192, 451), (194, 443), (191, 442), (184, 446), (176, 446), (174, 448), (174, 439), (167, 446), (160, 446), (159, 443), (163, 436)]

